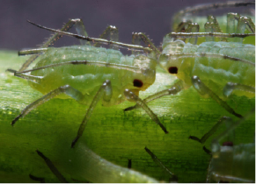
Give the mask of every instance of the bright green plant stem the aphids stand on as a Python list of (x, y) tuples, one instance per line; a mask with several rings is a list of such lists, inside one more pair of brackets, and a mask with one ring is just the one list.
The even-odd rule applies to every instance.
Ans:
[[(58, 183), (35, 152), (37, 149), (70, 183), (77, 183), (71, 178), (93, 183), (169, 180), (144, 151), (145, 146), (178, 176), (179, 183), (206, 179), (210, 156), (202, 150), (202, 145), (188, 137), (201, 138), (220, 117), (232, 117), (212, 99), (201, 98), (194, 88), (189, 88), (177, 96), (165, 96), (149, 103), (169, 134), (165, 134), (143, 110), (123, 111), (134, 103), (113, 107), (98, 104), (84, 135), (75, 148), (70, 148), (88, 108), (75, 100), (55, 98), (11, 126), (11, 121), (26, 105), (42, 96), (30, 88), (26, 80), (5, 72), (7, 68), (18, 69), (25, 60), (18, 58), (17, 52), (0, 53), (0, 183), (38, 183), (29, 178), (30, 173), (45, 178), (46, 183)], [(141, 97), (168, 88), (173, 81), (173, 77), (158, 69), (155, 84)], [(255, 99), (245, 96), (233, 97), (228, 103), (242, 115), (256, 105)], [(217, 131), (215, 136), (224, 129)], [(254, 130), (253, 118), (240, 125), (236, 131), (236, 143), (252, 142)], [(206, 144), (208, 148), (210, 139)], [(123, 168), (128, 166), (128, 159), (132, 160), (132, 171)]]

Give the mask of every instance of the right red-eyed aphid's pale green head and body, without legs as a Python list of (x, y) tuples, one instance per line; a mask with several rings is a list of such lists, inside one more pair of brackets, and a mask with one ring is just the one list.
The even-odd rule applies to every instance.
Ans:
[[(192, 76), (199, 76), (208, 88), (222, 98), (225, 97), (223, 95), (230, 95), (228, 89), (223, 94), (227, 82), (256, 86), (256, 46), (252, 45), (204, 42), (198, 46), (186, 44), (179, 39), (173, 41), (167, 35), (159, 63), (167, 72), (184, 81), (184, 88), (194, 85)], [(241, 90), (235, 90), (233, 94), (256, 96)]]

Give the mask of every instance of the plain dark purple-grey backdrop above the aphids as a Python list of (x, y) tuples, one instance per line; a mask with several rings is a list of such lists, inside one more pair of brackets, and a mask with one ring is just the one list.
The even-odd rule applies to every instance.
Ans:
[[(59, 29), (69, 18), (82, 18), (91, 37), (99, 37), (107, 25), (116, 25), (121, 42), (130, 43), (131, 32), (146, 32), (158, 46), (165, 34), (171, 32), (171, 20), (175, 12), (187, 6), (219, 1), (0, 0), (0, 49), (33, 48), (48, 38), (50, 32), (28, 24), (26, 19)], [(78, 43), (76, 39), (65, 38), (57, 46)]]

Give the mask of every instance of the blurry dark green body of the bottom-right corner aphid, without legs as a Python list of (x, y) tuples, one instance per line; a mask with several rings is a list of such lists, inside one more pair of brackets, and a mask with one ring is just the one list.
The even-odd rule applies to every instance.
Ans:
[[(220, 152), (213, 152), (209, 172), (212, 180), (256, 180), (256, 146), (242, 144), (221, 146)], [(247, 182), (245, 182), (247, 183)]]

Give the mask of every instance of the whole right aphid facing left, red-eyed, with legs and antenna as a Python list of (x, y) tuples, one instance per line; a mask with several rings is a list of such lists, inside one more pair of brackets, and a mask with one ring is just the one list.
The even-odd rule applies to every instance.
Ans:
[[(247, 22), (244, 23), (248, 25)], [(249, 98), (256, 96), (256, 88), (254, 88), (256, 86), (254, 80), (256, 46), (223, 41), (208, 41), (198, 46), (185, 43), (180, 39), (194, 39), (194, 37), (243, 39), (255, 35), (255, 33), (244, 32), (171, 32), (167, 34), (163, 41), (163, 51), (161, 53), (158, 51), (158, 64), (179, 80), (171, 88), (148, 96), (143, 101), (148, 103), (161, 96), (176, 95), (182, 89), (193, 86), (201, 96), (213, 98), (230, 114), (242, 117), (225, 101), (231, 94)]]

